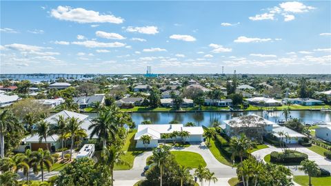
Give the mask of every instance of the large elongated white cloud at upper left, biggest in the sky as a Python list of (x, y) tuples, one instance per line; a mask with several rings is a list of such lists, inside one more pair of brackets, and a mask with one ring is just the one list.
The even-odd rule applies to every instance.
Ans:
[(56, 19), (64, 21), (74, 21), (77, 23), (123, 23), (124, 19), (115, 17), (112, 14), (100, 14), (93, 10), (84, 8), (71, 8), (70, 6), (58, 6), (52, 9), (50, 15)]

